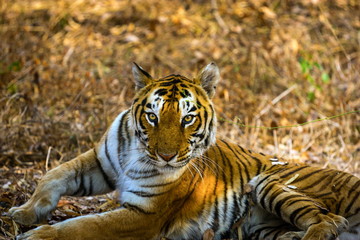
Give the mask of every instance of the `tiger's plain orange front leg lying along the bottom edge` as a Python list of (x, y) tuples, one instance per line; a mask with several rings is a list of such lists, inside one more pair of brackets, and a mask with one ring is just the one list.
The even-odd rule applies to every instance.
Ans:
[(54, 225), (43, 225), (17, 237), (17, 240), (62, 239), (154, 239), (160, 232), (161, 216), (121, 208), (87, 215)]

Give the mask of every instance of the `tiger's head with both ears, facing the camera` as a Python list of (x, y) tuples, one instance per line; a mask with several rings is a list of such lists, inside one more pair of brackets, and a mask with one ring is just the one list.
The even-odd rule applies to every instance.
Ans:
[(210, 99), (220, 73), (214, 63), (193, 80), (181, 75), (154, 79), (137, 64), (132, 70), (137, 90), (131, 106), (133, 127), (151, 164), (182, 168), (215, 143)]

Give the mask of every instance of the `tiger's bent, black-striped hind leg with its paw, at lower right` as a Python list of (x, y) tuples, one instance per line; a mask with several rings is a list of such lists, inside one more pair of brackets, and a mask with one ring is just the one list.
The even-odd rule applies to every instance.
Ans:
[(330, 240), (348, 228), (344, 217), (329, 212), (321, 202), (281, 183), (276, 176), (260, 175), (253, 186), (258, 206), (303, 231), (285, 233), (280, 240)]

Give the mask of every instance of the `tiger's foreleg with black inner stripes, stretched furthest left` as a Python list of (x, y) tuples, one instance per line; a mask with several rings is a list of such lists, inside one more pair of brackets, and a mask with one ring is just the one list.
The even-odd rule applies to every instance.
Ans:
[(106, 193), (114, 190), (111, 185), (92, 149), (46, 173), (31, 198), (9, 213), (18, 223), (39, 223), (55, 209), (61, 196)]

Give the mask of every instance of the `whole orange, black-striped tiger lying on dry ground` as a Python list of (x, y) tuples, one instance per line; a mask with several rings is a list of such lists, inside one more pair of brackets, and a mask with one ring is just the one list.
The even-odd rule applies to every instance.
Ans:
[(360, 239), (359, 178), (216, 137), (215, 63), (192, 79), (155, 79), (136, 63), (132, 73), (130, 108), (94, 148), (47, 172), (9, 215), (20, 224), (41, 223), (61, 196), (115, 190), (120, 207), (45, 224), (17, 239), (202, 239), (208, 231), (215, 240)]

